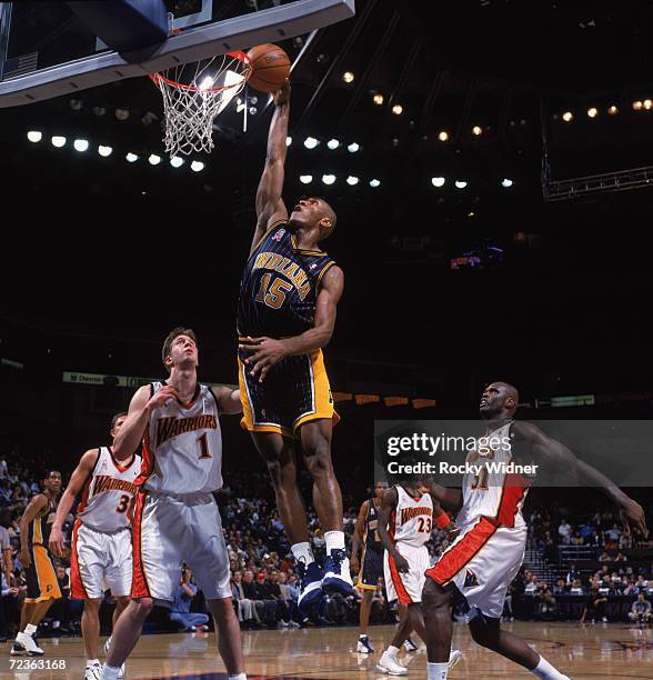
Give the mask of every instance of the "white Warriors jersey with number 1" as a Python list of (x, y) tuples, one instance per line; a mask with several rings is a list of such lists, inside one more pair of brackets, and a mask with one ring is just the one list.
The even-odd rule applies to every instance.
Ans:
[[(153, 382), (151, 394), (164, 383)], [(211, 389), (198, 384), (187, 404), (169, 399), (153, 409), (143, 438), (142, 471), (135, 480), (168, 496), (207, 493), (222, 486), (220, 410)]]

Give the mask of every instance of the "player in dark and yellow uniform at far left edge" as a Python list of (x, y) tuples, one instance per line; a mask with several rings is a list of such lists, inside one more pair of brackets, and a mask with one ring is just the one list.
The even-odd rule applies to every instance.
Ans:
[(61, 472), (48, 472), (42, 484), (20, 518), (20, 562), (27, 580), (27, 597), (20, 612), (20, 629), (11, 648), (12, 654), (41, 656), (43, 650), (34, 641), (37, 627), (54, 600), (61, 597), (54, 567), (48, 553), (48, 536), (61, 490)]

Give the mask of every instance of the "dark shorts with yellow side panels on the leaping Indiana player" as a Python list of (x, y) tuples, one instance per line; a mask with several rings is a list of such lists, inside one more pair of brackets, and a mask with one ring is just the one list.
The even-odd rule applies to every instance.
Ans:
[(328, 418), (335, 424), (340, 420), (333, 409), (322, 350), (283, 358), (270, 369), (263, 382), (259, 382), (259, 374), (250, 376), (253, 366), (243, 363), (249, 353), (238, 352), (243, 429), (278, 432), (293, 439), (304, 422)]

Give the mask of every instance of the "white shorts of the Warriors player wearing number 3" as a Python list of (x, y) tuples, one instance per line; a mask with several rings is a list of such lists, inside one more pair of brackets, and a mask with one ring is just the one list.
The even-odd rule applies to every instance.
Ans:
[(72, 528), (70, 592), (73, 598), (102, 598), (107, 588), (115, 598), (131, 591), (131, 531), (97, 531), (81, 520)]

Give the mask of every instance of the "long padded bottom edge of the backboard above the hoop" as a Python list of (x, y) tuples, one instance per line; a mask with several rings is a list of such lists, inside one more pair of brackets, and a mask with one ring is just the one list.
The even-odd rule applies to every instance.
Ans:
[[(2, 3), (0, 16), (8, 16)], [(354, 0), (298, 0), (170, 36), (140, 63), (104, 52), (0, 82), (0, 108), (17, 107), (71, 94), (115, 80), (148, 76), (190, 61), (232, 50), (285, 40), (350, 19)], [(4, 49), (6, 46), (0, 46)]]

